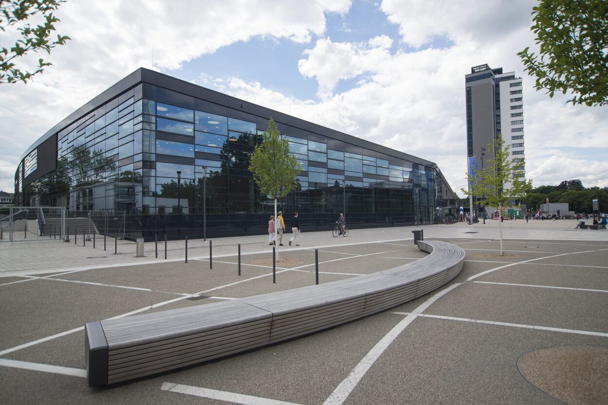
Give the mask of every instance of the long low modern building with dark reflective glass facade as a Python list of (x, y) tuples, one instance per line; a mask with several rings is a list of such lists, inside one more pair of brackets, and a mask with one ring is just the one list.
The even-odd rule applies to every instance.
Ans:
[(304, 230), (341, 212), (350, 228), (434, 223), (455, 206), (433, 162), (143, 68), (24, 152), (15, 205), (124, 213), (126, 237), (264, 234), (274, 204), (247, 167), (270, 118), (302, 166), (278, 206)]

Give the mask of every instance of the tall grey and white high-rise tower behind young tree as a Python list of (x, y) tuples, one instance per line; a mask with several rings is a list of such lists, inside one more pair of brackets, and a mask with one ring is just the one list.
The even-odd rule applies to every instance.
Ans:
[(478, 169), (491, 158), (488, 145), (498, 134), (511, 146), (514, 161), (525, 158), (522, 78), (502, 67), (474, 66), (465, 75), (465, 92), (467, 156), (475, 157)]

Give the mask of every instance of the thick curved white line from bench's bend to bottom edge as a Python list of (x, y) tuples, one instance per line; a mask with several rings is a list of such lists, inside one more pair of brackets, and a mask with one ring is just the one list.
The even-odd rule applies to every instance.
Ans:
[(353, 391), (354, 387), (359, 384), (359, 381), (363, 378), (367, 370), (374, 364), (374, 362), (382, 355), (384, 350), (388, 349), (389, 345), (395, 340), (399, 333), (403, 332), (403, 330), (412, 323), (414, 319), (429, 305), (433, 304), (433, 302), (437, 301), (437, 299), (441, 298), (441, 296), (449, 293), (454, 288), (458, 287), (462, 283), (455, 283), (451, 286), (444, 288), (439, 291), (437, 294), (427, 299), (423, 304), (418, 306), (410, 315), (406, 316), (401, 322), (395, 325), (389, 333), (384, 335), (382, 339), (374, 347), (371, 348), (369, 352), (364, 356), (364, 358), (359, 361), (359, 364), (354, 366), (348, 376), (342, 380), (336, 389), (331, 393), (330, 396), (323, 402), (323, 405), (342, 405), (344, 401), (348, 398), (348, 395)]

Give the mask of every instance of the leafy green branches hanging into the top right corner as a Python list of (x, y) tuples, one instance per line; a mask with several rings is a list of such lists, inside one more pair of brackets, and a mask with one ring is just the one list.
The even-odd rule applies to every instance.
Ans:
[(527, 47), (517, 56), (536, 76), (534, 88), (549, 97), (572, 90), (573, 104), (608, 104), (608, 2), (541, 0), (533, 10), (539, 55)]

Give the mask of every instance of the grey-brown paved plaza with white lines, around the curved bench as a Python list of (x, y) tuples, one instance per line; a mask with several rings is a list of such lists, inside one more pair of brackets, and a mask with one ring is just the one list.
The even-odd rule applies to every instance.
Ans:
[[(267, 236), (0, 243), (2, 404), (608, 403), (608, 231), (574, 220), (329, 231), (278, 253)], [(465, 250), (461, 273), (415, 301), (304, 338), (91, 389), (86, 322), (289, 290), (426, 256), (412, 231)], [(238, 245), (241, 276), (238, 276)]]

